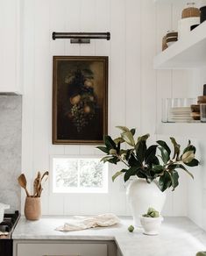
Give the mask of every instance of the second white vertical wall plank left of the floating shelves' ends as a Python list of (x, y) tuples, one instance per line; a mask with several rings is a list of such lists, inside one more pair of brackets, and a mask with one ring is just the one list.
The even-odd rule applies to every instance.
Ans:
[[(148, 11), (150, 11), (148, 9)], [(125, 67), (125, 109), (128, 127), (141, 127), (141, 1), (126, 2), (126, 67)], [(135, 29), (134, 29), (135, 27)], [(132, 112), (135, 114), (133, 115)]]

